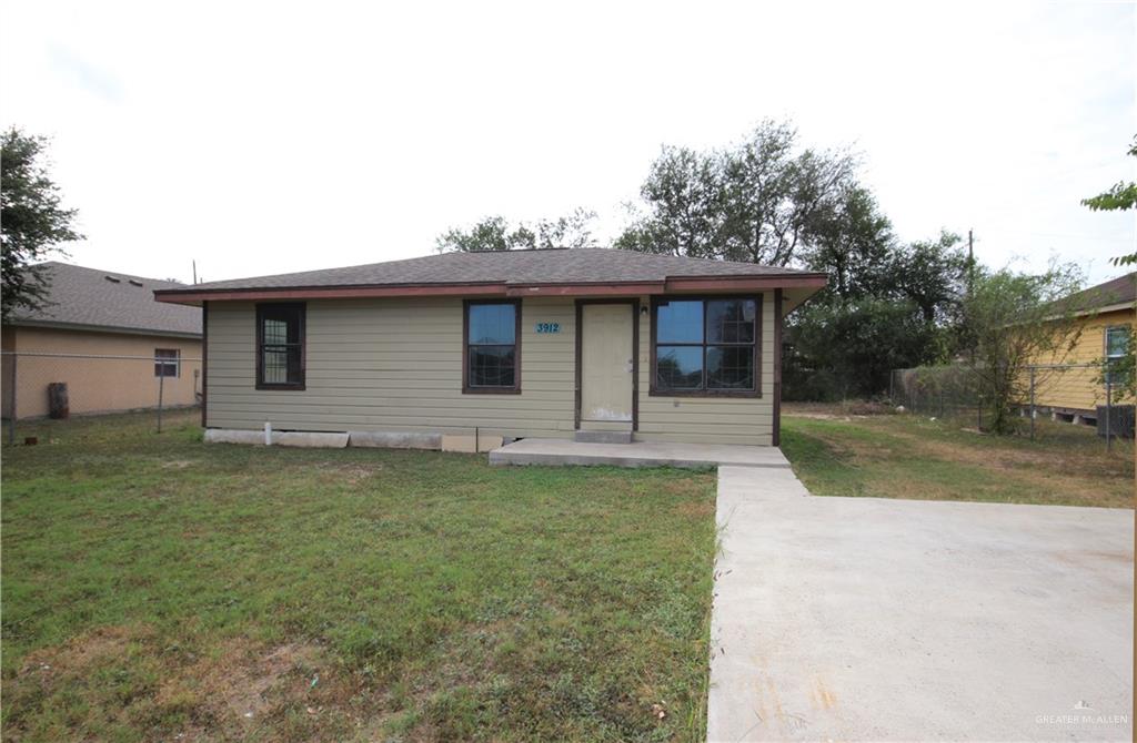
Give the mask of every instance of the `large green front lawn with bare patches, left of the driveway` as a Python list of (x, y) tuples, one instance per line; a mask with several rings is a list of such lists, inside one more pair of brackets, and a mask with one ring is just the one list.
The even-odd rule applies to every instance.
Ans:
[(702, 737), (713, 474), (166, 423), (5, 448), (6, 738)]

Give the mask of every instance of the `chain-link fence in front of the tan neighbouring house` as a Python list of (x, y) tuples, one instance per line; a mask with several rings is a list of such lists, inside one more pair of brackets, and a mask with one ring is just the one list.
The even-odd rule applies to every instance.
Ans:
[(161, 433), (164, 411), (201, 404), (201, 359), (177, 349), (156, 356), (0, 353), (5, 441), (22, 423), (152, 410)]

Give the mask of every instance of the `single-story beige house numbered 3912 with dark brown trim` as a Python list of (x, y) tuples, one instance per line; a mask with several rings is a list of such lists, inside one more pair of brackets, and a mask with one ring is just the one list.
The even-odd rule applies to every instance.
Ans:
[(778, 445), (781, 328), (822, 274), (611, 249), (161, 289), (201, 307), (207, 428)]

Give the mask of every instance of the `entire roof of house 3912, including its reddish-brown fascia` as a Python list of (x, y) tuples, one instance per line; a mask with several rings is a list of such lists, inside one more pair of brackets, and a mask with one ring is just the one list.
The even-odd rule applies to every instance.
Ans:
[[(586, 294), (824, 285), (824, 275), (757, 264), (606, 248), (453, 252), (382, 264), (210, 282), (159, 300), (396, 294)], [(360, 290), (372, 290), (363, 292)]]

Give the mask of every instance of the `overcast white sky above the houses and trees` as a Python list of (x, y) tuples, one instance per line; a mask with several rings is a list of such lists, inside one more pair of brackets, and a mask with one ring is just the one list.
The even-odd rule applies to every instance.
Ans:
[(1117, 275), (1134, 3), (3, 0), (0, 124), (55, 137), (74, 262), (189, 281), (428, 254), (484, 215), (624, 220), (661, 144), (853, 143), (905, 240)]

